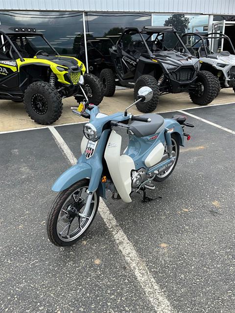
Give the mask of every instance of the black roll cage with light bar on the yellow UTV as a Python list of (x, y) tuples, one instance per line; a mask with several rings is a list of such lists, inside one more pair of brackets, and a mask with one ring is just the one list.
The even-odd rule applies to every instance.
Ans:
[(7, 43), (9, 43), (11, 45), (11, 47), (14, 49), (14, 51), (17, 53), (17, 55), (19, 56), (20, 60), (23, 62), (24, 58), (23, 56), (20, 54), (20, 52), (17, 50), (17, 48), (15, 47), (15, 45), (13, 44), (13, 42), (11, 41), (11, 39), (9, 38), (8, 35), (16, 35), (16, 34), (20, 34), (20, 35), (37, 35), (42, 37), (45, 42), (47, 43), (47, 45), (49, 45), (49, 47), (55, 52), (56, 55), (60, 55), (55, 48), (50, 45), (50, 43), (47, 41), (47, 39), (44, 37), (43, 33), (37, 31), (35, 28), (32, 27), (14, 27), (14, 26), (5, 26), (5, 25), (0, 25), (0, 35), (4, 35), (6, 40), (4, 41), (4, 43), (2, 43), (2, 45), (0, 46), (0, 49), (6, 45)]

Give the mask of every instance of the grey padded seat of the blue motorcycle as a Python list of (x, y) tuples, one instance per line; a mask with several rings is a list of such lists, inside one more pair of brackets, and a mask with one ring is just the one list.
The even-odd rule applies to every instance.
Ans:
[(151, 118), (151, 122), (139, 122), (131, 121), (128, 126), (130, 126), (130, 131), (137, 137), (144, 137), (156, 134), (158, 131), (164, 129), (164, 118), (159, 114), (149, 113), (142, 115), (143, 117)]

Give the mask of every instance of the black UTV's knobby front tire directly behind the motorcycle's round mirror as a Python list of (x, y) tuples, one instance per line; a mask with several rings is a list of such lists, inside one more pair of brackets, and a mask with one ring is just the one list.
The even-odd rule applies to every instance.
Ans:
[(153, 90), (153, 97), (150, 101), (148, 102), (138, 102), (137, 103), (137, 109), (143, 113), (150, 113), (153, 112), (159, 103), (159, 87), (158, 87), (158, 82), (157, 80), (150, 75), (142, 75), (140, 76), (134, 87), (134, 98), (135, 101), (138, 100), (138, 91), (141, 87), (147, 86), (150, 87)]

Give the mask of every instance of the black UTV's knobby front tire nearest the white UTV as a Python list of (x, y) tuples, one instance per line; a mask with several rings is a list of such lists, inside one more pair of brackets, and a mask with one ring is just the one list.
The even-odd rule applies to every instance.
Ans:
[(193, 103), (205, 106), (217, 97), (220, 89), (219, 81), (211, 72), (202, 70), (197, 74), (196, 83), (203, 85), (203, 92), (189, 92), (189, 97)]

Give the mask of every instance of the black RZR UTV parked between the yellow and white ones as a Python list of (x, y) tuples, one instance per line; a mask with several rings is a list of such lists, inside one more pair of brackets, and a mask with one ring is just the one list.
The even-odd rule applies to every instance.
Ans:
[(199, 60), (192, 56), (173, 27), (126, 28), (110, 49), (112, 66), (100, 72), (104, 95), (112, 96), (116, 86), (134, 88), (137, 99), (142, 86), (153, 89), (148, 103), (137, 104), (141, 112), (152, 112), (159, 96), (188, 92), (193, 103), (207, 105), (216, 97), (218, 80), (209, 71), (199, 72)]

